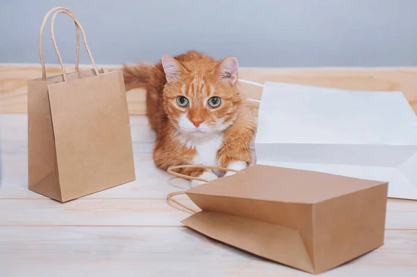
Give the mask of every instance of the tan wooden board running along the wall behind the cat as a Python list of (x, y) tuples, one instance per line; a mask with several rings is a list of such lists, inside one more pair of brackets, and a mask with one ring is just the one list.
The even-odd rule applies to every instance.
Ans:
[[(90, 67), (82, 65), (82, 68)], [(105, 71), (120, 65), (103, 66)], [(74, 71), (73, 65), (67, 71)], [(48, 74), (60, 74), (58, 65), (48, 65)], [(25, 113), (26, 82), (42, 76), (39, 65), (0, 64), (0, 112)], [(322, 87), (338, 87), (347, 90), (374, 90), (404, 92), (407, 100), (417, 112), (417, 69), (409, 68), (240, 68), (240, 78), (263, 83), (278, 81)], [(260, 99), (261, 88), (242, 84), (247, 96)], [(127, 93), (131, 115), (144, 115), (145, 90)], [(256, 107), (256, 104), (254, 104)]]

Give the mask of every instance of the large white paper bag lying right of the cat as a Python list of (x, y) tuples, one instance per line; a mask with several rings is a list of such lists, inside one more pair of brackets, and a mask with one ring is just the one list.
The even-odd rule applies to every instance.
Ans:
[(256, 163), (389, 181), (417, 199), (417, 117), (402, 92), (265, 83)]

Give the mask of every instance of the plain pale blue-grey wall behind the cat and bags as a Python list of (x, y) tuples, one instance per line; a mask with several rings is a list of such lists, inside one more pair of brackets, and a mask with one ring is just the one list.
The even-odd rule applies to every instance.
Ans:
[[(245, 67), (417, 65), (417, 0), (0, 0), (0, 62), (39, 62), (40, 24), (54, 6), (79, 18), (100, 64), (197, 49)], [(74, 24), (56, 22), (73, 63)], [(46, 61), (57, 62), (49, 25), (43, 41)]]

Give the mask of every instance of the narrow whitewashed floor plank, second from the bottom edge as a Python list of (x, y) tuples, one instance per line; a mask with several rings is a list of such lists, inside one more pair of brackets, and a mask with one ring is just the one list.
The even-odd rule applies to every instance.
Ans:
[[(181, 201), (191, 208), (189, 199)], [(0, 199), (0, 226), (182, 226), (190, 215), (161, 199)], [(417, 203), (389, 199), (386, 229), (417, 230)]]

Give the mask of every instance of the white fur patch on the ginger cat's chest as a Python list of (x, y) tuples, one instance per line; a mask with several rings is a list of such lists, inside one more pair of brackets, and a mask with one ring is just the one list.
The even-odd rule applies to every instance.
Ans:
[(222, 146), (222, 141), (222, 133), (187, 140), (186, 145), (197, 151), (192, 160), (193, 165), (218, 166), (217, 151)]

